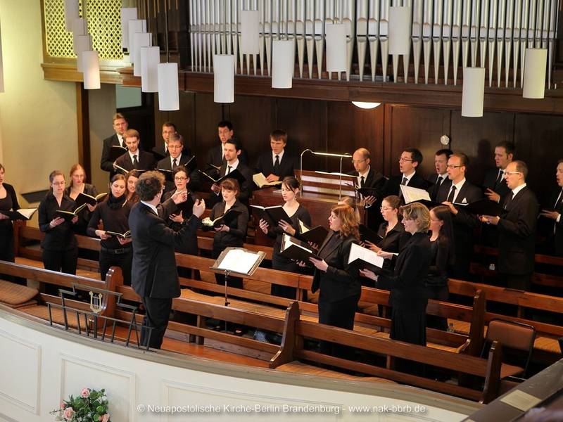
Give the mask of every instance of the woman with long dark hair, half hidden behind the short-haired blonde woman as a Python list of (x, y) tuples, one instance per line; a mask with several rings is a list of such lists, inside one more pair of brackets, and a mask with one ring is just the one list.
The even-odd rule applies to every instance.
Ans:
[[(448, 300), (448, 268), (455, 261), (455, 240), (450, 207), (439, 205), (430, 210), (431, 264), (426, 277), (428, 298)], [(438, 330), (448, 329), (448, 319), (441, 316), (426, 316), (426, 326)]]

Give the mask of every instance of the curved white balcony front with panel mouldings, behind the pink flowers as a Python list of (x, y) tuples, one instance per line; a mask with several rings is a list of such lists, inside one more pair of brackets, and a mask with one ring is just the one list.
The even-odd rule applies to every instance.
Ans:
[[(58, 332), (58, 333), (56, 333)], [(54, 333), (54, 334), (53, 334)], [(0, 421), (50, 421), (61, 399), (84, 387), (106, 388), (112, 421), (460, 421), (480, 409), (476, 403), (388, 383), (296, 376), (175, 354), (125, 350), (118, 345), (22, 322), (0, 309)], [(156, 362), (155, 362), (156, 361)], [(417, 403), (426, 407), (417, 412)], [(225, 409), (224, 405), (249, 411)], [(149, 406), (210, 406), (216, 414), (170, 412)], [(264, 414), (256, 406), (270, 407)], [(326, 411), (288, 413), (286, 406)], [(393, 405), (403, 411), (392, 411)], [(139, 406), (144, 406), (143, 408)], [(351, 406), (387, 406), (390, 411), (358, 414)], [(410, 411), (407, 406), (411, 407)], [(419, 405), (420, 406), (420, 405)], [(275, 409), (275, 407), (279, 407)]]

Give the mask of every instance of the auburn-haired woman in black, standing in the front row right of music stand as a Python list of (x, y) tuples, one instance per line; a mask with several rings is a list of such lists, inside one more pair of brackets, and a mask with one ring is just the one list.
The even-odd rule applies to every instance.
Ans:
[[(341, 328), (354, 328), (354, 316), (362, 285), (358, 271), (348, 267), (352, 243), (358, 243), (358, 221), (350, 205), (335, 205), (329, 216), (331, 232), (319, 248), (321, 260), (309, 258), (315, 265), (311, 291), (319, 293), (319, 322)], [(321, 352), (346, 354), (346, 347), (322, 341)]]

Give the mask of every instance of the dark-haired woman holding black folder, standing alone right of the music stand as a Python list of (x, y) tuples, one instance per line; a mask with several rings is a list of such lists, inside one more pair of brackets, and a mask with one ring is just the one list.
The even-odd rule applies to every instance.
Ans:
[[(260, 229), (267, 234), (270, 238), (275, 238), (274, 242), (274, 252), (272, 254), (272, 268), (279, 269), (281, 271), (291, 271), (296, 273), (302, 273), (303, 267), (299, 267), (296, 262), (293, 262), (289, 258), (280, 255), (279, 250), (281, 248), (281, 239), (284, 233), (289, 234), (289, 236), (296, 236), (299, 231), (299, 222), (301, 220), (306, 226), (311, 226), (311, 217), (307, 208), (303, 207), (297, 202), (297, 195), (299, 193), (299, 182), (295, 177), (288, 176), (284, 177), (281, 182), (281, 197), (284, 198), (284, 211), (287, 216), (291, 219), (291, 222), (281, 221), (279, 226), (270, 227), (264, 219), (260, 219)], [(280, 296), (281, 298), (296, 298), (296, 288), (289, 286), (279, 286), (277, 284), (272, 284), (271, 294), (274, 296)]]

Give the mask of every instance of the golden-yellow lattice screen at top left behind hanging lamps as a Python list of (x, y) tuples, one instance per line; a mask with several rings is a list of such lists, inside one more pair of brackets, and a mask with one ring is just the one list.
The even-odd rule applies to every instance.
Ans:
[[(80, 15), (84, 0), (80, 1)], [(74, 58), (72, 33), (65, 29), (65, 1), (43, 0), (46, 51), (51, 57)], [(94, 50), (105, 60), (122, 60), (121, 0), (87, 0), (88, 32)]]

